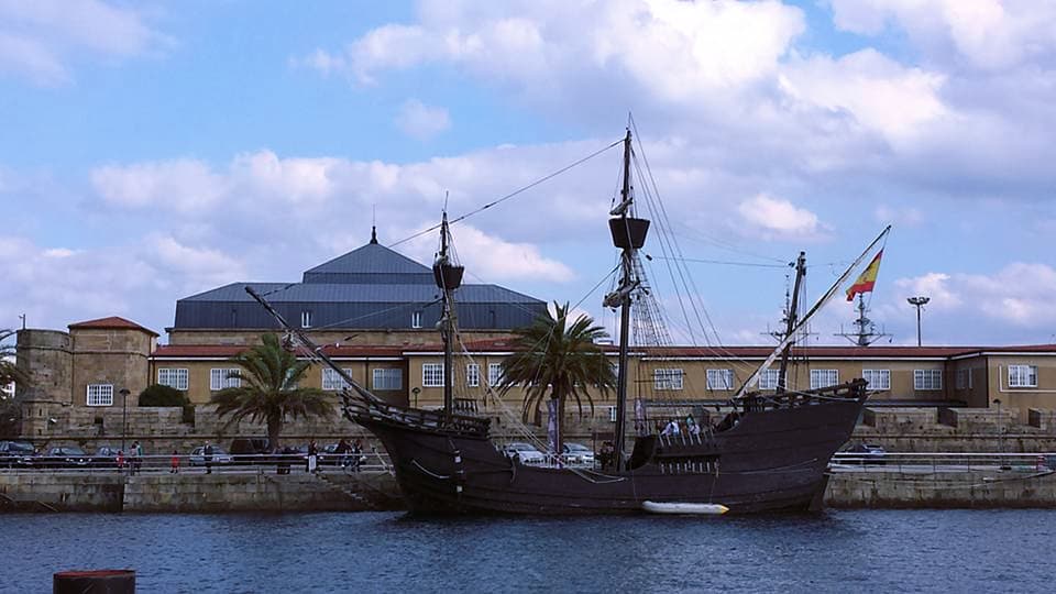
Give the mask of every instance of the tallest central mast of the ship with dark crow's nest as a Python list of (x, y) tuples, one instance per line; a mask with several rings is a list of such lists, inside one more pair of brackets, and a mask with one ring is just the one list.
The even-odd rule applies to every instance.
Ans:
[[(638, 249), (645, 245), (646, 234), (649, 231), (649, 221), (638, 219), (630, 212), (634, 205), (630, 186), (630, 130), (624, 138), (624, 187), (620, 191), (620, 202), (609, 215), (608, 228), (613, 234), (613, 244), (623, 250), (620, 253), (619, 286), (605, 296), (605, 307), (619, 307), (619, 369), (616, 374), (616, 427), (614, 431), (614, 450), (616, 469), (624, 468), (624, 435), (627, 417), (627, 374), (628, 349), (630, 346), (630, 296), (638, 286), (635, 278), (634, 262)], [(628, 216), (630, 213), (630, 216)]]

